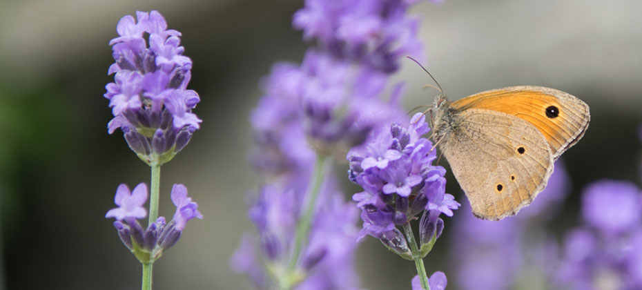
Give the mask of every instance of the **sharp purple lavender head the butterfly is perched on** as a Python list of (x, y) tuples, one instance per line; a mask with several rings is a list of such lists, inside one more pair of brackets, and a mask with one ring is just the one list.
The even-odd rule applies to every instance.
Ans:
[[(396, 226), (425, 211), (420, 233), (427, 234), (422, 242), (428, 242), (435, 232), (439, 235), (443, 229), (439, 215), (451, 216), (452, 210), (460, 206), (452, 195), (445, 193), (445, 170), (431, 164), (436, 154), (431, 152), (431, 142), (421, 137), (428, 132), (421, 115), (415, 115), (407, 126), (391, 124), (372, 131), (364, 145), (348, 153), (350, 180), (364, 189), (353, 195), (362, 211), (360, 238), (372, 235), (387, 245), (391, 237), (403, 239), (403, 235), (398, 238)], [(389, 151), (396, 153), (387, 153)], [(372, 164), (365, 162), (371, 158), (382, 160), (382, 153), (394, 158), (387, 159), (383, 168), (363, 167), (363, 164)]]

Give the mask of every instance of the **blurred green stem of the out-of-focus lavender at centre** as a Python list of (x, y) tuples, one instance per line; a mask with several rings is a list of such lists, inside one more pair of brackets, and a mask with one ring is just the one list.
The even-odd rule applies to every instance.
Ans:
[(310, 226), (312, 224), (312, 215), (314, 213), (314, 206), (316, 204), (317, 197), (319, 196), (319, 192), (321, 191), (321, 184), (324, 179), (325, 163), (326, 157), (323, 155), (317, 155), (317, 160), (314, 164), (314, 173), (312, 175), (313, 182), (311, 182), (311, 187), (308, 188), (308, 200), (305, 204), (301, 221), (296, 228), (294, 248), (286, 273), (291, 274), (292, 271), (294, 271), (296, 263), (299, 260), (299, 252), (301, 251), (301, 247), (303, 247), (305, 239), (309, 235)]

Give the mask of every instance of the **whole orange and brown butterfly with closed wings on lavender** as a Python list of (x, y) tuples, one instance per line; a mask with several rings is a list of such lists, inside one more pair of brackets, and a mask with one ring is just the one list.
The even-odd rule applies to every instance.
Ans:
[(433, 138), (474, 215), (501, 220), (543, 191), (554, 161), (583, 136), (589, 107), (552, 88), (514, 86), (432, 109)]

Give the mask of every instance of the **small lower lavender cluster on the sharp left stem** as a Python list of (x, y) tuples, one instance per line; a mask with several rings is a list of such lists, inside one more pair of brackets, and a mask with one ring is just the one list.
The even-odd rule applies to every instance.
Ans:
[(177, 206), (173, 220), (166, 225), (165, 218), (157, 220), (143, 229), (138, 219), (146, 218), (147, 212), (142, 205), (147, 200), (147, 186), (138, 184), (130, 193), (125, 184), (116, 191), (116, 209), (110, 209), (105, 218), (115, 218), (114, 227), (123, 244), (143, 263), (153, 262), (172, 247), (180, 238), (185, 224), (192, 218), (203, 218), (197, 204), (187, 197), (187, 189), (182, 184), (174, 184), (172, 200)]

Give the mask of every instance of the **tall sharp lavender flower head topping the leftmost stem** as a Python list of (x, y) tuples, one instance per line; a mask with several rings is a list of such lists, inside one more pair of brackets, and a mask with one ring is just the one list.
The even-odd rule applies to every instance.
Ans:
[[(121, 128), (130, 148), (148, 164), (162, 164), (182, 150), (201, 120), (191, 113), (200, 101), (187, 90), (192, 62), (182, 55), (180, 32), (166, 30), (162, 15), (153, 10), (127, 15), (112, 39), (115, 63), (108, 74), (109, 106), (114, 118), (109, 133)], [(144, 35), (148, 34), (148, 39)]]

